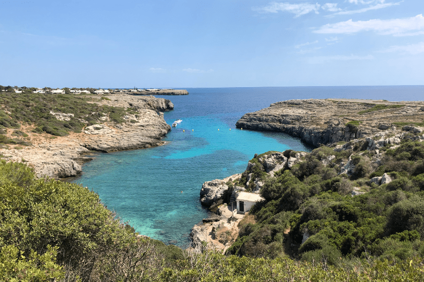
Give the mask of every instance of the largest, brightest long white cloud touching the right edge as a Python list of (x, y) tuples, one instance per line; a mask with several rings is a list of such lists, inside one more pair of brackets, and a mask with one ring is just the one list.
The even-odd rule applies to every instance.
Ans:
[(383, 35), (412, 36), (424, 34), (424, 17), (417, 15), (406, 19), (392, 20), (369, 20), (353, 22), (352, 19), (346, 22), (327, 24), (321, 26), (314, 33), (355, 33), (361, 31), (375, 31)]

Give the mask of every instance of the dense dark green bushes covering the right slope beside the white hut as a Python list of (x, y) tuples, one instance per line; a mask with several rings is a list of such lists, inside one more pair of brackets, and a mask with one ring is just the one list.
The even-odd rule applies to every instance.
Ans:
[[(351, 149), (341, 152), (317, 148), (275, 177), (260, 174), (259, 160), (251, 160), (266, 200), (251, 209), (256, 224), (240, 228), (228, 253), (328, 264), (340, 257), (400, 262), (423, 256), (424, 143), (407, 139), (395, 149), (388, 145), (380, 149), (386, 154), (379, 162), (372, 161), (375, 153), (365, 150), (364, 140), (347, 145)], [(349, 156), (351, 171), (339, 174), (340, 162)], [(384, 173), (393, 181), (380, 186), (370, 181)], [(354, 187), (366, 193), (352, 197)]]

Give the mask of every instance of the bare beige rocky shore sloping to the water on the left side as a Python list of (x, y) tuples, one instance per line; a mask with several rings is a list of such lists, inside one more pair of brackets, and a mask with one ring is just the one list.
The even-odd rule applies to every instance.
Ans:
[[(169, 100), (111, 94), (99, 96), (94, 103), (131, 108), (137, 114), (124, 116), (131, 122), (123, 123), (104, 117), (101, 124), (87, 126), (81, 133), (70, 132), (63, 137), (32, 133), (32, 126), (21, 126), (21, 130), (29, 135), (26, 141), (32, 146), (3, 148), (0, 149), (0, 156), (2, 159), (27, 163), (34, 168), (37, 177), (65, 178), (81, 173), (82, 163), (91, 160), (87, 156), (90, 151), (107, 153), (160, 146), (164, 144), (162, 137), (171, 129), (163, 114), (163, 111), (174, 108)], [(57, 119), (66, 118), (66, 113), (52, 115)], [(13, 129), (7, 129), (7, 135), (11, 136), (12, 132)]]

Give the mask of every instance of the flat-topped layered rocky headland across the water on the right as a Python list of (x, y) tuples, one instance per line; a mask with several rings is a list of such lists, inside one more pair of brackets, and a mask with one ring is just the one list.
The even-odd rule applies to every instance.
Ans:
[[(288, 100), (246, 113), (237, 121), (236, 127), (285, 132), (317, 147), (370, 136), (393, 127), (394, 122), (421, 122), (423, 104), (419, 101)], [(376, 105), (382, 106), (381, 110), (369, 111)], [(369, 112), (364, 112), (367, 110)]]

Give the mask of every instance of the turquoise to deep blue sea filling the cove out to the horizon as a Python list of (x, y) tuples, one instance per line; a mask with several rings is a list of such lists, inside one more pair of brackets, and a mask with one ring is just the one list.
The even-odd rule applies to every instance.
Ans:
[(94, 153), (72, 182), (96, 192), (138, 233), (183, 248), (193, 226), (210, 216), (199, 197), (205, 181), (242, 173), (254, 154), (313, 149), (285, 133), (238, 129), (243, 114), (290, 99), (424, 100), (424, 86), (174, 89), (187, 89), (189, 95), (156, 96), (174, 103), (174, 110), (164, 113), (168, 124), (182, 120), (163, 139), (165, 145)]

